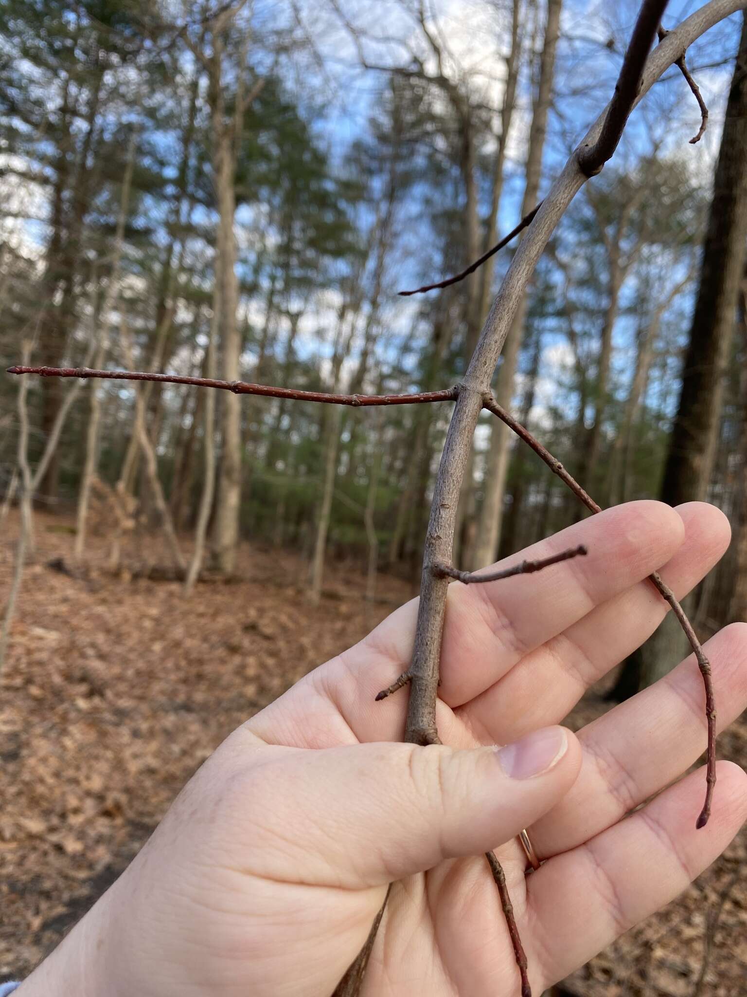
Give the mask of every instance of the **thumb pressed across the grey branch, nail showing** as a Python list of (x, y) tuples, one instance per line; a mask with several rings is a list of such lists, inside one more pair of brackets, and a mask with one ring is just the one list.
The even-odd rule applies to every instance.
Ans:
[[(563, 727), (504, 748), (293, 751), (282, 773), (270, 766), (274, 817), (301, 831), (307, 881), (362, 888), (510, 840), (558, 803), (580, 766), (579, 742)], [(292, 813), (282, 813), (279, 797)]]

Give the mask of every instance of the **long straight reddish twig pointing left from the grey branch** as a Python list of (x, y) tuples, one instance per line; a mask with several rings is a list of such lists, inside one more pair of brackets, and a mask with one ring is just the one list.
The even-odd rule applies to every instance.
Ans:
[(275, 388), (246, 381), (218, 381), (209, 377), (182, 377), (179, 374), (154, 374), (149, 371), (96, 371), (88, 367), (8, 367), (8, 374), (38, 374), (40, 377), (105, 378), (110, 381), (161, 381), (167, 384), (193, 384), (198, 388), (218, 388), (234, 395), (261, 395), (265, 398), (291, 398), (297, 402), (321, 402), (323, 405), (349, 405), (371, 408), (376, 405), (417, 405), (427, 402), (453, 402), (458, 388), (420, 391), (410, 395), (330, 395), (322, 391), (299, 391)]

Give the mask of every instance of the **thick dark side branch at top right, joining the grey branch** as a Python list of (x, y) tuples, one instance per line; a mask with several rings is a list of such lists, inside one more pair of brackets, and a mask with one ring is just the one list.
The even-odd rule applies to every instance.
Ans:
[(585, 144), (579, 153), (579, 166), (586, 176), (598, 173), (618, 148), (622, 130), (640, 96), (643, 69), (666, 4), (667, 0), (643, 0), (640, 6), (599, 138), (594, 145)]

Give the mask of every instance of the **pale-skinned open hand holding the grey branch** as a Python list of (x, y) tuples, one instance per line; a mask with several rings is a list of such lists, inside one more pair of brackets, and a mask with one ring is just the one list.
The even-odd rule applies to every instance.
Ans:
[[(631, 502), (526, 551), (584, 543), (587, 557), (454, 583), (438, 705), (448, 747), (394, 743), (406, 692), (373, 702), (406, 667), (415, 604), (403, 606), (218, 748), (19, 997), (329, 997), (390, 881), (367, 997), (516, 997), (480, 856), (491, 847), (542, 993), (681, 892), (747, 819), (747, 778), (721, 762), (710, 823), (695, 830), (704, 770), (680, 779), (705, 748), (692, 658), (578, 736), (555, 726), (664, 615), (646, 575), (661, 569), (682, 597), (728, 540), (711, 506)], [(706, 653), (723, 729), (747, 706), (747, 625)], [(522, 828), (546, 859), (530, 875)]]

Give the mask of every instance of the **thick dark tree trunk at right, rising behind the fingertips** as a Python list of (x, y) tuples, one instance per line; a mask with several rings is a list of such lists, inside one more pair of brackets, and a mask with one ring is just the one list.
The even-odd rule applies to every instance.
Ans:
[[(660, 498), (670, 505), (707, 498), (731, 352), (747, 240), (747, 16), (713, 184), (695, 310)], [(674, 626), (672, 626), (674, 622)], [(642, 685), (687, 652), (671, 614), (644, 648)]]

